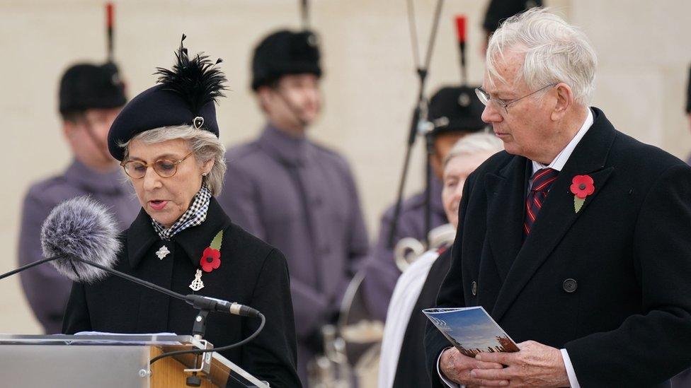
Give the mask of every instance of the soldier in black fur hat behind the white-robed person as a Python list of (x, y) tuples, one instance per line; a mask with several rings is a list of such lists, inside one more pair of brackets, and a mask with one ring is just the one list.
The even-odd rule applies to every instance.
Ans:
[[(442, 161), (452, 146), (466, 134), (482, 131), (483, 105), (476, 98), (472, 88), (467, 86), (440, 89), (430, 100), (428, 119), (435, 126), (428, 135), (433, 137), (434, 153), (430, 163), (434, 177), (430, 183), (430, 228), (448, 223), (442, 204)], [(394, 291), (401, 271), (396, 266), (394, 252), (389, 248), (389, 233), (394, 216), (391, 206), (382, 216), (379, 240), (372, 248), (365, 266), (363, 293), (369, 304), (367, 310), (372, 318), (386, 317), (389, 299)], [(404, 237), (424, 240), (425, 230), (425, 192), (418, 192), (401, 204), (401, 213), (396, 226), (394, 244)]]

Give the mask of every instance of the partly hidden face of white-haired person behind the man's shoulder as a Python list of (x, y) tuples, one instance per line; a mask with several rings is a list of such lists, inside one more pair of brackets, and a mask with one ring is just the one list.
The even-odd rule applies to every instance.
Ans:
[(461, 202), (461, 194), (465, 180), (479, 165), (493, 155), (491, 151), (459, 155), (450, 159), (444, 167), (442, 188), (442, 204), (447, 220), (458, 227), (458, 205)]

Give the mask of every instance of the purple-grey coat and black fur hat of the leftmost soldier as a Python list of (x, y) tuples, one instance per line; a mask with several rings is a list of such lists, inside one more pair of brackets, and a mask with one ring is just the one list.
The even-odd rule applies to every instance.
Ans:
[[(72, 120), (89, 109), (121, 107), (125, 102), (118, 68), (113, 63), (76, 64), (65, 71), (60, 81), (59, 112), (65, 120)], [(41, 225), (52, 208), (86, 194), (108, 206), (122, 229), (137, 216), (139, 202), (119, 169), (97, 172), (74, 160), (62, 175), (33, 184), (24, 197), (18, 244), (20, 265), (43, 258)], [(45, 332), (59, 333), (71, 282), (52, 266), (42, 265), (23, 271), (21, 283)]]

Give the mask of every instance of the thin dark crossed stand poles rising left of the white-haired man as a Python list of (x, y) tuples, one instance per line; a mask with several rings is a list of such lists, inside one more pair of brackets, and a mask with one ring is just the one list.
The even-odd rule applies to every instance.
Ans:
[[(415, 110), (413, 110), (413, 119), (411, 120), (411, 126), (408, 135), (408, 144), (406, 148), (406, 155), (404, 157), (403, 172), (401, 172), (401, 180), (399, 181), (398, 194), (396, 195), (396, 205), (394, 206), (394, 217), (391, 221), (391, 227), (389, 228), (389, 239), (387, 246), (389, 249), (394, 248), (394, 238), (396, 237), (396, 229), (398, 228), (399, 217), (401, 215), (401, 203), (403, 201), (403, 190), (406, 186), (406, 178), (408, 177), (408, 167), (410, 164), (411, 149), (415, 143), (418, 134), (426, 134), (428, 131), (427, 122), (427, 100), (424, 97), (425, 84), (427, 81), (428, 69), (430, 66), (430, 60), (432, 59), (432, 49), (434, 47), (435, 38), (437, 36), (437, 30), (439, 27), (439, 16), (442, 10), (443, 0), (437, 1), (437, 6), (435, 9), (435, 16), (433, 20), (432, 30), (430, 32), (430, 42), (427, 46), (427, 54), (424, 66), (418, 66), (416, 72), (419, 79), (418, 97), (416, 102)], [(415, 57), (416, 63), (418, 63), (417, 54), (417, 39), (415, 37), (415, 26), (414, 26), (414, 16), (411, 11), (412, 3), (411, 0), (408, 2), (409, 17), (411, 22), (411, 37), (413, 37), (413, 56)], [(427, 147), (429, 148), (429, 146)], [(428, 233), (430, 230), (430, 154), (428, 151), (427, 155), (427, 170), (426, 173), (426, 204), (425, 204), (425, 233), (424, 241), (428, 242)]]

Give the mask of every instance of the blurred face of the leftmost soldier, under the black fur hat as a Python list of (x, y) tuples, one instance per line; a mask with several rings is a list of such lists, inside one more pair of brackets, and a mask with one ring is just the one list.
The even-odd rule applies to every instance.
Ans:
[(108, 130), (120, 108), (90, 109), (76, 122), (65, 122), (64, 133), (77, 160), (93, 170), (112, 170), (117, 161), (108, 152)]

